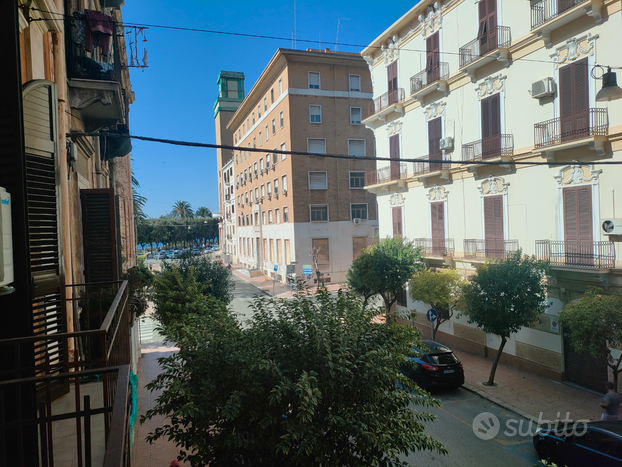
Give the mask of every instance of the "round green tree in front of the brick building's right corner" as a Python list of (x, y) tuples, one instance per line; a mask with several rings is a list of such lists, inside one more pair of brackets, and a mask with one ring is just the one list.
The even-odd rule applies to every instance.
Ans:
[(350, 266), (348, 285), (366, 299), (379, 294), (388, 314), (413, 273), (423, 269), (420, 251), (399, 237), (369, 246)]

